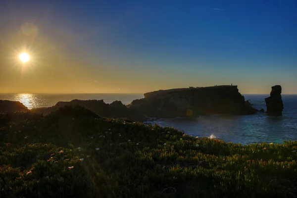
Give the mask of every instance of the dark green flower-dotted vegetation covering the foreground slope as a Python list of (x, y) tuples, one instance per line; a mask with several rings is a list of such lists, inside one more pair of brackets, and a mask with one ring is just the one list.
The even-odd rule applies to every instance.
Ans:
[(296, 141), (225, 143), (81, 107), (0, 124), (0, 198), (297, 196)]

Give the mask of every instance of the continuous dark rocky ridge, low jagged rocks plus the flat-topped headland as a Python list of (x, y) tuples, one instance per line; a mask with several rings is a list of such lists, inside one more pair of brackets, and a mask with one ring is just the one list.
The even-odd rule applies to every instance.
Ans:
[(237, 86), (214, 86), (160, 90), (144, 94), (129, 105), (121, 101), (106, 104), (103, 100), (78, 100), (58, 102), (49, 108), (32, 109), (47, 113), (64, 106), (81, 105), (104, 117), (127, 118), (144, 121), (149, 117), (196, 117), (205, 114), (253, 114), (257, 110), (245, 101)]

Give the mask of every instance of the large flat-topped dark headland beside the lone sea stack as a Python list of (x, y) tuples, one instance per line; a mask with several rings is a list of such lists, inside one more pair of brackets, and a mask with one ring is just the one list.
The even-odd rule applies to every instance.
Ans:
[(204, 114), (254, 114), (237, 86), (183, 88), (146, 93), (130, 109), (146, 117), (195, 117)]

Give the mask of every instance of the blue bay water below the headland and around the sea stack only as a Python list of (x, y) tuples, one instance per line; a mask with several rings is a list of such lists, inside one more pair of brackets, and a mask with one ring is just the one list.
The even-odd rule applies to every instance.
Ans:
[[(264, 108), (268, 95), (245, 95), (245, 99), (257, 109)], [(216, 137), (226, 142), (282, 143), (297, 140), (297, 95), (283, 95), (283, 116), (268, 116), (266, 113), (254, 115), (209, 115), (195, 119), (173, 118), (151, 122), (161, 126), (171, 126), (198, 137)]]

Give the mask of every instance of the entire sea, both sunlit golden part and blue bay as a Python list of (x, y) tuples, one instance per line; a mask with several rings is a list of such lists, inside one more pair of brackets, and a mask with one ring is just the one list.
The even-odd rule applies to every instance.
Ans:
[[(264, 99), (269, 95), (244, 95), (257, 109), (264, 108)], [(20, 101), (29, 109), (48, 107), (58, 101), (72, 99), (103, 99), (105, 103), (121, 100), (129, 104), (134, 99), (143, 98), (143, 94), (0, 94), (0, 99)], [(282, 95), (283, 116), (268, 116), (266, 113), (254, 115), (208, 115), (197, 118), (158, 119), (149, 122), (160, 126), (171, 126), (183, 130), (186, 134), (218, 138), (226, 142), (283, 143), (285, 140), (297, 140), (297, 95)]]

